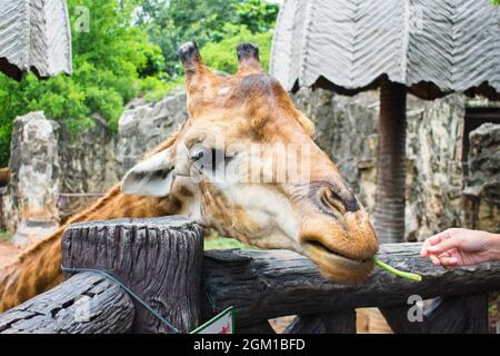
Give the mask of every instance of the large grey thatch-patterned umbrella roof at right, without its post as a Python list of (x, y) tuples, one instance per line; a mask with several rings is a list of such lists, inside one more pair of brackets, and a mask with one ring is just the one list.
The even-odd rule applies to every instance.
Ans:
[(423, 98), (470, 88), (491, 96), (500, 92), (499, 18), (490, 0), (284, 0), (270, 69), (287, 90), (327, 81), (352, 92), (387, 75)]

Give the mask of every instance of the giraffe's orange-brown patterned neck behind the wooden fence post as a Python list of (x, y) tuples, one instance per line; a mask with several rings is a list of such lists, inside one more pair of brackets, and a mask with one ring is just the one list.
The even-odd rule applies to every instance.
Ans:
[(181, 208), (182, 202), (174, 195), (168, 198), (130, 197), (120, 192), (119, 185), (114, 186), (88, 210), (76, 215), (59, 230), (0, 270), (0, 313), (61, 283), (61, 236), (70, 224), (167, 216), (180, 212)]

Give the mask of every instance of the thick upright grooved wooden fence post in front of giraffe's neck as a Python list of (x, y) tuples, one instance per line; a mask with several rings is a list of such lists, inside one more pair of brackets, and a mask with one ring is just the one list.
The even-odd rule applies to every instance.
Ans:
[[(200, 226), (177, 216), (74, 224), (63, 235), (63, 265), (107, 270), (188, 333), (200, 320), (202, 238)], [(172, 333), (132, 300), (133, 333)]]

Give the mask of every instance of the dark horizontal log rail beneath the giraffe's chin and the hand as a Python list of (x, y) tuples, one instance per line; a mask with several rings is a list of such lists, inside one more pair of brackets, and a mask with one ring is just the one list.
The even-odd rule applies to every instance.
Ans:
[(421, 283), (376, 269), (364, 283), (341, 286), (321, 277), (306, 257), (286, 250), (206, 251), (204, 318), (229, 306), (240, 327), (283, 315), (339, 314), (357, 307), (407, 305), (422, 298), (460, 296), (500, 289), (500, 264), (447, 270), (419, 256), (421, 244), (381, 245), (378, 257), (396, 268), (416, 271)]

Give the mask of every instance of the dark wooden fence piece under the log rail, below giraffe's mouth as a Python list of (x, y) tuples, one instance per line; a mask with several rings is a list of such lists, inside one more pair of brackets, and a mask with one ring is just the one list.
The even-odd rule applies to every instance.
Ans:
[(300, 315), (284, 334), (356, 334), (356, 312)]

